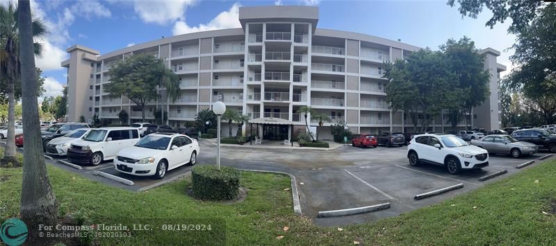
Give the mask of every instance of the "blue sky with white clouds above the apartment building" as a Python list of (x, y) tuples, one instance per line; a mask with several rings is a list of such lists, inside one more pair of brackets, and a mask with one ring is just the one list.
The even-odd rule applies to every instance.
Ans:
[[(0, 0), (3, 4), (7, 1)], [(162, 36), (221, 28), (238, 28), (241, 6), (318, 6), (317, 28), (347, 30), (438, 49), (448, 39), (470, 37), (479, 49), (500, 51), (498, 62), (512, 69), (508, 49), (514, 35), (507, 34), (508, 19), (494, 28), (484, 24), (491, 17), (484, 10), (477, 19), (461, 17), (446, 0), (329, 1), (329, 0), (31, 0), (35, 15), (47, 22), (49, 36), (40, 42), (45, 53), (36, 65), (47, 77), (43, 96), (62, 94), (67, 69), (65, 49), (81, 44), (101, 54)], [(504, 76), (506, 73), (502, 73)], [(40, 99), (41, 100), (41, 99)]]

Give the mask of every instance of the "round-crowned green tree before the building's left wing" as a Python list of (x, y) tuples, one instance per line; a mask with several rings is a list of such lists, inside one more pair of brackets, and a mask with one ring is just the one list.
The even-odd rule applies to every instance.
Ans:
[(126, 96), (138, 105), (142, 121), (145, 121), (145, 105), (159, 97), (158, 88), (164, 87), (172, 102), (180, 94), (177, 75), (153, 55), (137, 54), (116, 62), (110, 73), (111, 83), (104, 90), (112, 96)]

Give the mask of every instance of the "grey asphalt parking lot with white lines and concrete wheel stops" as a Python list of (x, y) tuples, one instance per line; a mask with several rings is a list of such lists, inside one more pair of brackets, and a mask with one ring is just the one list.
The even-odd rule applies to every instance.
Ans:
[[(215, 146), (207, 141), (200, 141), (199, 145), (201, 152), (197, 157), (197, 165), (215, 164)], [(537, 165), (541, 162), (538, 160), (539, 157), (549, 154), (548, 152), (539, 152), (537, 155), (519, 159), (506, 155), (490, 155), (488, 167), (482, 170), (464, 171), (459, 175), (450, 175), (441, 166), (427, 164), (417, 167), (410, 166), (407, 161), (406, 150), (407, 147), (405, 146), (363, 149), (341, 146), (335, 150), (327, 151), (261, 150), (223, 146), (222, 165), (250, 170), (279, 171), (295, 175), (303, 215), (314, 218), (318, 225), (334, 226), (398, 216), (400, 213), (435, 204), (489, 182), (495, 182), (498, 179), (518, 173), (528, 168), (516, 168), (524, 162), (534, 159), (535, 163), (532, 166)], [(47, 163), (111, 186), (132, 191), (144, 191), (166, 182), (172, 182), (174, 179), (190, 175), (191, 170), (191, 166), (182, 166), (170, 170), (164, 179), (159, 180), (152, 177), (136, 177), (119, 173), (113, 167), (112, 161), (105, 161), (99, 166), (82, 166), (83, 169), (81, 170), (60, 164), (56, 161), (56, 158), (54, 161), (47, 160)], [(480, 177), (500, 170), (507, 170), (507, 174), (484, 182), (478, 180)], [(133, 185), (95, 175), (95, 172), (103, 172), (128, 179), (133, 182)], [(420, 193), (455, 184), (464, 184), (464, 188), (424, 200), (414, 200), (414, 196)], [(353, 216), (317, 218), (319, 211), (365, 207), (384, 202), (389, 202), (391, 207)]]

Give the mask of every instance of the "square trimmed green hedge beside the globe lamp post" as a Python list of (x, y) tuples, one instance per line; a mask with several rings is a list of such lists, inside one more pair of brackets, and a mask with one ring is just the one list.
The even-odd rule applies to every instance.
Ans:
[(240, 172), (229, 166), (195, 166), (193, 194), (202, 200), (232, 200), (238, 196)]

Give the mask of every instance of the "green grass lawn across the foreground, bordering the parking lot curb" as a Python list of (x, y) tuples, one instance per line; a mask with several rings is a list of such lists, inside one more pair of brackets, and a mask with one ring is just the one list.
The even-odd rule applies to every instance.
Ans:
[[(85, 209), (99, 222), (159, 218), (216, 225), (211, 233), (142, 231), (133, 238), (101, 238), (102, 245), (203, 243), (218, 239), (222, 231), (228, 245), (352, 245), (354, 241), (361, 245), (554, 245), (556, 215), (550, 204), (556, 206), (556, 161), (535, 165), (440, 204), (341, 231), (295, 216), (291, 193), (284, 191), (290, 186), (289, 177), (283, 175), (245, 172), (242, 186), (249, 189), (247, 199), (220, 204), (186, 196), (190, 179), (135, 193), (59, 168), (48, 170), (63, 214)], [(0, 221), (19, 213), (21, 173), (21, 168), (0, 169)]]

